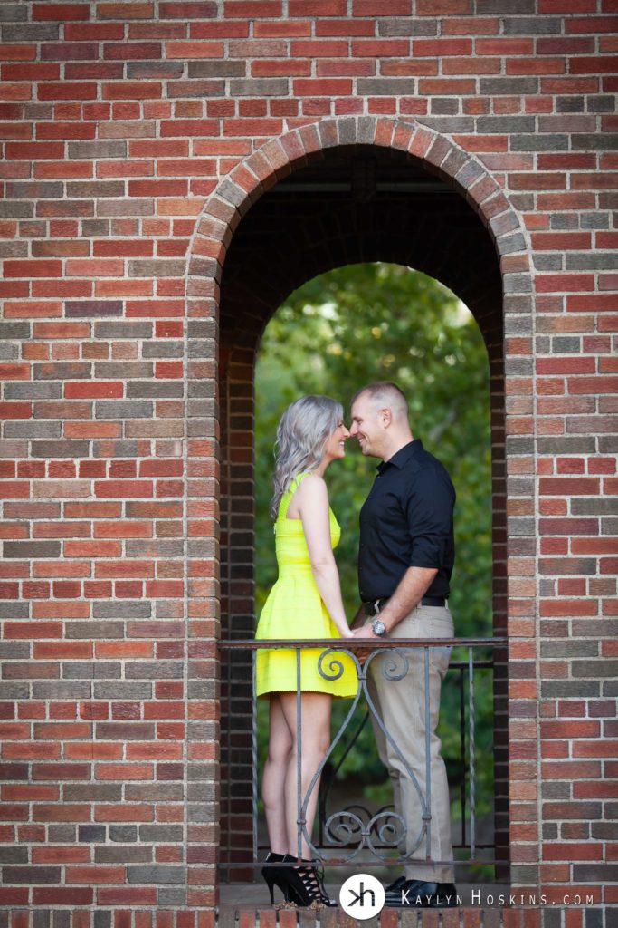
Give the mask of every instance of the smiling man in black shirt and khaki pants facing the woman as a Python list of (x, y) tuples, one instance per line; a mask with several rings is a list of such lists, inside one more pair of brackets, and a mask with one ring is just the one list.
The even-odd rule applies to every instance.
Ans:
[[(355, 627), (354, 634), (359, 638), (452, 638), (448, 582), (455, 554), (455, 490), (448, 472), (414, 439), (408, 403), (396, 384), (382, 381), (363, 387), (352, 400), (351, 419), (350, 434), (358, 439), (363, 455), (382, 458), (360, 510), (359, 591), (365, 615), (364, 624)], [(373, 658), (370, 668), (376, 708), (398, 751), (377, 725), (374, 728), (380, 756), (393, 781), (396, 812), (406, 823), (405, 853), (423, 860), (426, 833), (421, 839), (424, 822), (419, 791), (424, 800), (424, 650), (405, 653), (408, 672), (400, 680), (382, 673), (388, 652)], [(454, 870), (448, 863), (453, 852), (447, 773), (435, 734), (449, 656), (446, 647), (429, 651), (429, 827), (431, 858), (439, 863), (407, 864), (405, 875), (386, 888), (387, 906), (455, 905)]]

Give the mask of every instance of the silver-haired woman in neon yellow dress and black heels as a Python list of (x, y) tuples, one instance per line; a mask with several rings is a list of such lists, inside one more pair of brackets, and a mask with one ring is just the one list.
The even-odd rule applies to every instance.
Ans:
[[(341, 532), (329, 508), (323, 479), (331, 462), (345, 457), (348, 437), (343, 408), (328, 396), (303, 396), (284, 412), (277, 430), (271, 506), (279, 578), (264, 604), (256, 638), (353, 638), (333, 555)], [(355, 664), (349, 655), (336, 655), (343, 672), (336, 680), (329, 680), (322, 676), (318, 666), (322, 653), (320, 648), (301, 651), (303, 801), (328, 751), (333, 697), (354, 696), (358, 687)], [(272, 886), (277, 885), (286, 901), (303, 906), (331, 905), (314, 862), (308, 859), (309, 844), (304, 839), (302, 857), (296, 857), (296, 683), (296, 651), (258, 651), (258, 696), (270, 700), (269, 755), (262, 796), (271, 840), (266, 859), (271, 866), (265, 867), (262, 874), (271, 892), (271, 902)], [(317, 794), (316, 782), (306, 811), (309, 835)], [(272, 866), (280, 862), (295, 866)]]

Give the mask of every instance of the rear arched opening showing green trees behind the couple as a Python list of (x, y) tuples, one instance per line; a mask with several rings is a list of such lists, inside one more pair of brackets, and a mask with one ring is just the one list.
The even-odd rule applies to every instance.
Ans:
[[(269, 509), (273, 435), (284, 407), (303, 393), (325, 393), (347, 406), (359, 385), (390, 379), (409, 398), (414, 435), (440, 458), (457, 489), (457, 559), (449, 599), (457, 637), (493, 637), (488, 377), (485, 342), (472, 314), (451, 291), (422, 272), (400, 264), (348, 264), (312, 278), (284, 300), (264, 331), (255, 373), (256, 617), (277, 578)], [(335, 556), (348, 618), (359, 608), (359, 509), (372, 488), (376, 463), (363, 458), (358, 443), (350, 439), (346, 457), (334, 462), (326, 475), (341, 527)], [(301, 615), (299, 603), (298, 614), (291, 612), (289, 621)], [(467, 657), (461, 647), (451, 655), (438, 729), (450, 785), (452, 843), (457, 858), (493, 859), (492, 653), (477, 647), (473, 654), (473, 812), (465, 699), (462, 705)], [(371, 712), (368, 715), (364, 699), (352, 719), (347, 718), (349, 708), (347, 700), (334, 703), (332, 739), (337, 746), (319, 791), (320, 824), (314, 837), (326, 859), (336, 856), (333, 829), (347, 820), (344, 810), (360, 817), (366, 833), (373, 831), (372, 841), (380, 844), (377, 828), (369, 823), (384, 822), (374, 817), (393, 807), (391, 782), (368, 724)], [(258, 702), (257, 718), (260, 780), (268, 740), (266, 701)], [(329, 820), (331, 826), (326, 827)], [(347, 824), (352, 827), (354, 822), (350, 818)], [(257, 831), (264, 857), (269, 844), (262, 815)], [(360, 840), (358, 831), (353, 832), (349, 853)], [(363, 857), (371, 860), (367, 851)], [(471, 870), (463, 865), (459, 870), (458, 884), (493, 880), (490, 866)], [(328, 873), (333, 881), (344, 878), (340, 871)]]

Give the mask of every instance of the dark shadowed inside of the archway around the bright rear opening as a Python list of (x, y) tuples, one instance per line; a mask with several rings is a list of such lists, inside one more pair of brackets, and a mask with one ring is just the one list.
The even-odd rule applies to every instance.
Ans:
[[(494, 633), (506, 632), (502, 274), (479, 215), (428, 167), (407, 151), (344, 144), (320, 150), (252, 206), (236, 204), (244, 214), (236, 213), (238, 225), (225, 242), (220, 303), (221, 638), (251, 638), (255, 627), (253, 379), (262, 332), (284, 297), (311, 277), (375, 261), (440, 280), (483, 334), (492, 407)], [(511, 218), (501, 223), (511, 231)], [(504, 654), (496, 654), (496, 664), (495, 832), (506, 864)], [(221, 864), (233, 879), (250, 878), (239, 866), (253, 842), (250, 680), (250, 655), (234, 653), (221, 677)]]

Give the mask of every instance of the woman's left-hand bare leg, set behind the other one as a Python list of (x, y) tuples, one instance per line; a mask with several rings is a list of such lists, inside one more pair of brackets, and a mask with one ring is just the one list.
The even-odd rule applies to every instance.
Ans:
[[(281, 693), (271, 693), (269, 754), (262, 776), (262, 798), (266, 824), (271, 841), (271, 851), (275, 854), (288, 853), (284, 792), (293, 746), (292, 736), (281, 706), (281, 695)], [(296, 699), (296, 694), (294, 698)]]

